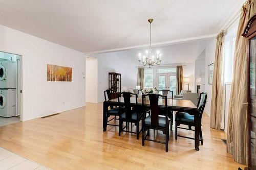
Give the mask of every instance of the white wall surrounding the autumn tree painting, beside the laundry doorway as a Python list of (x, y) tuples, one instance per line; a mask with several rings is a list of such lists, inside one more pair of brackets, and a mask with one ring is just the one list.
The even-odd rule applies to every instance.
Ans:
[[(85, 57), (70, 48), (0, 25), (0, 51), (22, 55), (23, 120), (85, 105)], [(73, 68), (72, 82), (48, 82), (47, 64)]]

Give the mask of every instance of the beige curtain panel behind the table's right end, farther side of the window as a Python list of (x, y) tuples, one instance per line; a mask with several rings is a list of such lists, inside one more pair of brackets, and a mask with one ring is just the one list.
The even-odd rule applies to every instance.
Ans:
[(210, 107), (210, 127), (220, 130), (221, 116), (223, 108), (223, 43), (224, 33), (220, 32), (217, 36), (215, 62), (214, 62), (214, 78), (211, 87), (211, 107)]

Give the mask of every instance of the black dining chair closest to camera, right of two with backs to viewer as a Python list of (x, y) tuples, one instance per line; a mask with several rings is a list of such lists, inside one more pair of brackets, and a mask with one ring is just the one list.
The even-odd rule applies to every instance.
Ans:
[[(167, 96), (161, 94), (144, 94), (143, 96), (147, 96), (150, 98), (150, 112), (146, 112), (146, 107), (144, 105), (144, 100), (142, 100), (142, 107), (143, 107), (143, 116), (142, 116), (142, 145), (144, 146), (145, 140), (154, 141), (158, 143), (165, 144), (165, 151), (168, 152), (168, 140), (169, 140), (169, 124), (170, 120), (168, 119), (168, 110), (167, 110)], [(158, 99), (159, 96), (165, 99), (165, 116), (161, 117), (160, 109), (158, 106)], [(147, 116), (147, 113), (149, 114)], [(163, 131), (165, 134), (165, 142), (154, 140), (148, 138), (150, 136), (150, 129), (160, 130)], [(145, 131), (147, 131), (145, 135)]]

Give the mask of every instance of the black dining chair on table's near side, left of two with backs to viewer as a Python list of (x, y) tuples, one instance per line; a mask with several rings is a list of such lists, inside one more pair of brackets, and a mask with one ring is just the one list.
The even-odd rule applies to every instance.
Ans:
[[(135, 96), (135, 106), (132, 108), (131, 106), (131, 96)], [(121, 110), (120, 99), (123, 98), (124, 108)], [(139, 123), (142, 118), (142, 113), (138, 110), (138, 99), (137, 94), (131, 92), (121, 92), (118, 93), (118, 105), (119, 105), (119, 132), (118, 135), (121, 135), (121, 132), (129, 132), (135, 133), (137, 135), (137, 139), (139, 139), (139, 134), (141, 130), (139, 130)], [(123, 122), (126, 122), (126, 126), (123, 127)], [(128, 125), (129, 123), (134, 123), (136, 126), (136, 132), (129, 131)], [(125, 129), (125, 130), (124, 130)]]

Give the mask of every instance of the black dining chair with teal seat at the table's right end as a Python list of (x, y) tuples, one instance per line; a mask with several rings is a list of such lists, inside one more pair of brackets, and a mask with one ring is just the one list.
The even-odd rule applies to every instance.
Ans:
[[(203, 134), (202, 134), (202, 127), (201, 127), (202, 126), (202, 115), (203, 115), (203, 112), (204, 112), (206, 99), (207, 99), (207, 93), (202, 92), (200, 94), (199, 101), (198, 101), (198, 104), (197, 104), (197, 108), (199, 109), (199, 124), (200, 124), (199, 134), (200, 134), (201, 144), (203, 144)], [(195, 138), (178, 135), (178, 131), (177, 131), (178, 128), (195, 131), (195, 129), (191, 129), (191, 127), (195, 127), (194, 115), (190, 115), (190, 114), (185, 113), (185, 112), (177, 112), (176, 116), (175, 116), (175, 122), (176, 122), (176, 124), (175, 124), (175, 139), (176, 140), (177, 140), (178, 136), (195, 140)], [(180, 125), (187, 125), (188, 128), (179, 127)]]

